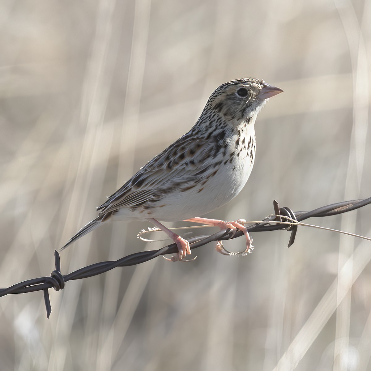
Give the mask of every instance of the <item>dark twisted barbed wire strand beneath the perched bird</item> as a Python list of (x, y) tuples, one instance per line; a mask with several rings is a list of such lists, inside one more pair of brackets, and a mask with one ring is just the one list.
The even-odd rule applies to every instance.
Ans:
[[(289, 207), (279, 207), (276, 200), (273, 200), (273, 208), (275, 213), (266, 217), (265, 219), (250, 224), (247, 226), (249, 232), (267, 232), (273, 230), (286, 229), (290, 234), (288, 247), (294, 243), (295, 235), (300, 225), (300, 222), (305, 219), (312, 217), (326, 217), (337, 214), (346, 213), (351, 210), (359, 209), (368, 204), (371, 204), (371, 197), (360, 200), (343, 201), (331, 205), (319, 207), (312, 211), (296, 211), (295, 213)], [(277, 223), (275, 223), (277, 222)], [(286, 223), (283, 223), (286, 222)], [(283, 224), (282, 224), (283, 223)], [(295, 225), (297, 224), (297, 225)], [(192, 250), (198, 247), (204, 246), (212, 241), (224, 241), (243, 236), (243, 232), (237, 230), (235, 234), (231, 229), (221, 230), (211, 235), (195, 236), (188, 239)], [(116, 267), (126, 267), (131, 265), (137, 265), (140, 263), (147, 262), (148, 260), (154, 259), (155, 257), (167, 254), (174, 254), (178, 252), (178, 248), (175, 243), (169, 244), (158, 250), (147, 250), (131, 255), (122, 257), (115, 261), (99, 262), (88, 265), (71, 272), (67, 275), (62, 275), (60, 272), (60, 256), (57, 250), (54, 252), (55, 257), (55, 270), (52, 271), (48, 277), (40, 277), (29, 279), (16, 285), (10, 286), (6, 289), (0, 289), (0, 297), (9, 294), (21, 294), (26, 292), (41, 291), (44, 292), (44, 301), (46, 306), (47, 318), (49, 318), (52, 312), (49, 299), (49, 289), (54, 288), (56, 291), (62, 290), (65, 287), (65, 283), (70, 280), (83, 279), (102, 273), (108, 272)]]

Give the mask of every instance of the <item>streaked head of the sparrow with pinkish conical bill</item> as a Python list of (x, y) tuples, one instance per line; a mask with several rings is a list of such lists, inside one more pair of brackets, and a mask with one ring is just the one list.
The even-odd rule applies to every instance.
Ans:
[(206, 104), (227, 121), (241, 121), (256, 116), (270, 97), (283, 92), (263, 80), (244, 78), (219, 86)]

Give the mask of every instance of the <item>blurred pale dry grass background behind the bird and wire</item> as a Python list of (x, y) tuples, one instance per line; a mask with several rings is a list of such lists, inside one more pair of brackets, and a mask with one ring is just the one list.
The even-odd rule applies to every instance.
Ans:
[[(49, 275), (53, 250), (238, 77), (285, 92), (259, 115), (247, 186), (213, 217), (371, 196), (369, 0), (2, 0), (0, 27), (1, 287)], [(370, 217), (310, 222), (371, 236)], [(147, 226), (96, 230), (62, 272), (160, 247), (136, 238)], [(69, 282), (49, 320), (41, 293), (1, 298), (0, 370), (371, 370), (371, 244), (253, 238), (246, 259), (210, 244), (194, 263)]]

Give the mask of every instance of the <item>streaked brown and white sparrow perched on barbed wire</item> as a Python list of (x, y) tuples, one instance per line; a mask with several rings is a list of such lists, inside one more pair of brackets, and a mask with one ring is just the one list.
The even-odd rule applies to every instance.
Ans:
[(178, 253), (168, 258), (172, 261), (184, 261), (191, 254), (190, 244), (161, 222), (191, 221), (230, 228), (233, 233), (239, 229), (246, 236), (248, 250), (252, 240), (245, 220), (227, 222), (200, 215), (228, 203), (246, 184), (255, 162), (256, 117), (268, 99), (281, 92), (256, 78), (221, 84), (210, 95), (196, 124), (97, 207), (98, 216), (60, 250), (114, 220), (154, 224), (178, 247)]

